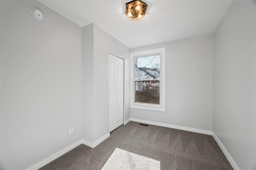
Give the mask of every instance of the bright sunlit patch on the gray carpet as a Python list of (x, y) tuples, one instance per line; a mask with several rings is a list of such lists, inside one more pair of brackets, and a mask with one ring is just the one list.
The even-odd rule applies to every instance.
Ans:
[(102, 170), (160, 170), (160, 161), (116, 148)]

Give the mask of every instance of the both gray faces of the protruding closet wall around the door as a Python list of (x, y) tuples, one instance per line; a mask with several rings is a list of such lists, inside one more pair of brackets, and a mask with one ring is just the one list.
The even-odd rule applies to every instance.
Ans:
[[(92, 81), (92, 92), (84, 89), (83, 138), (95, 142), (109, 133), (108, 115), (108, 52), (124, 58), (124, 120), (130, 118), (130, 49), (92, 23), (83, 27), (84, 81)], [(88, 39), (91, 39), (90, 42)], [(93, 50), (93, 51), (92, 51)], [(89, 69), (90, 68), (90, 69)], [(88, 69), (86, 71), (86, 69)], [(86, 88), (86, 84), (83, 85)], [(89, 115), (90, 114), (90, 115)], [(90, 124), (88, 124), (90, 123)], [(90, 130), (89, 130), (90, 129)], [(92, 136), (91, 134), (92, 133)]]

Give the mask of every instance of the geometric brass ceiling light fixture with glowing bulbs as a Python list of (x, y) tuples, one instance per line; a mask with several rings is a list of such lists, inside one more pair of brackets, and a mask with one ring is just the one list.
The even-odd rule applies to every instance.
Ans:
[(126, 3), (125, 14), (131, 21), (140, 21), (146, 14), (148, 5), (141, 0)]

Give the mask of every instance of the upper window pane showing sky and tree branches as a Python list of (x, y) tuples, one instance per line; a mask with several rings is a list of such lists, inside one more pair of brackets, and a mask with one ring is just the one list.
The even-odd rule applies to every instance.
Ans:
[(135, 58), (135, 80), (160, 79), (160, 55)]

